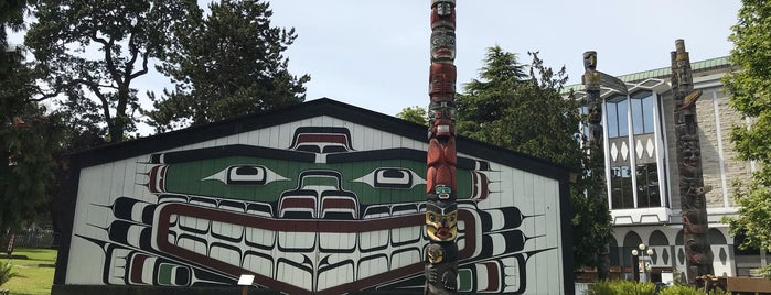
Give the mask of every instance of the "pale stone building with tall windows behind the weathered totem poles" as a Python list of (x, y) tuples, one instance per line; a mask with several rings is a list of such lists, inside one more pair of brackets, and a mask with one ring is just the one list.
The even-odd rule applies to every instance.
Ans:
[[(739, 240), (721, 222), (737, 214), (733, 182), (747, 179), (753, 163), (736, 159), (729, 140), (733, 127), (746, 124), (729, 107), (721, 77), (736, 69), (726, 57), (692, 63), (694, 88), (703, 91), (696, 102), (702, 165), (709, 216), (709, 241), (716, 275), (750, 275), (768, 263), (761, 251), (738, 249)], [(600, 69), (601, 70), (601, 69)], [(629, 96), (603, 88), (603, 132), (608, 205), (613, 222), (611, 272), (632, 277), (632, 250), (640, 244), (647, 256), (653, 281), (674, 269), (685, 273), (679, 175), (674, 130), (672, 70), (662, 67), (623, 75)], [(579, 97), (582, 85), (568, 87)], [(652, 251), (646, 251), (650, 248)], [(650, 256), (646, 252), (650, 252)], [(668, 275), (664, 275), (666, 281)]]

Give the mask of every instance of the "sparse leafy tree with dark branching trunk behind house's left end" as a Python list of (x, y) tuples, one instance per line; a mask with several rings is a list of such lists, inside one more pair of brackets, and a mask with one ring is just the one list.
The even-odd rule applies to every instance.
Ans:
[(64, 95), (73, 124), (122, 141), (136, 129), (139, 109), (132, 83), (170, 47), (192, 0), (38, 1), (25, 44), (51, 87), (40, 99)]

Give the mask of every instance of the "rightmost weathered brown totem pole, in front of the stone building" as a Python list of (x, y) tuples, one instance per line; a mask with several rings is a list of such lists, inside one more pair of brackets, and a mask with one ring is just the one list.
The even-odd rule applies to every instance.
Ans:
[(675, 101), (675, 136), (677, 167), (679, 168), (679, 195), (683, 217), (685, 265), (689, 283), (697, 276), (713, 273), (713, 251), (707, 230), (705, 194), (711, 187), (704, 186), (702, 148), (696, 120), (696, 100), (700, 90), (694, 90), (690, 58), (683, 40), (675, 41), (672, 52), (672, 94)]

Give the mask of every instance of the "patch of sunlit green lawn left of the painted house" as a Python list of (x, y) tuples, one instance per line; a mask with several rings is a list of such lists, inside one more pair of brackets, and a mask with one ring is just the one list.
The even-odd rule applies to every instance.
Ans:
[[(51, 294), (54, 267), (50, 265), (56, 262), (56, 250), (17, 248), (13, 254), (26, 255), (28, 259), (0, 259), (0, 261), (11, 261), (13, 270), (19, 275), (0, 288), (10, 289), (11, 294)], [(49, 266), (39, 267), (38, 264)]]

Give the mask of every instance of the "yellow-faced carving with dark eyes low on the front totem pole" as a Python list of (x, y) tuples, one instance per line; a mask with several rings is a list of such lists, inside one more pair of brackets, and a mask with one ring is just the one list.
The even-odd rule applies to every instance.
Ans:
[(427, 201), (426, 233), (433, 241), (454, 241), (458, 237), (458, 205)]

